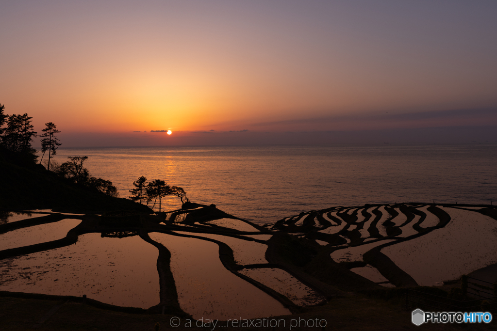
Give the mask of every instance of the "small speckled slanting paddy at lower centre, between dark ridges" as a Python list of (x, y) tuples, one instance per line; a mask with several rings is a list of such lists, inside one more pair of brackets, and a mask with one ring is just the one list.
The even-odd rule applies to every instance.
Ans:
[(265, 286), (283, 294), (298, 306), (317, 305), (325, 298), (297, 278), (278, 268), (254, 268), (238, 271)]

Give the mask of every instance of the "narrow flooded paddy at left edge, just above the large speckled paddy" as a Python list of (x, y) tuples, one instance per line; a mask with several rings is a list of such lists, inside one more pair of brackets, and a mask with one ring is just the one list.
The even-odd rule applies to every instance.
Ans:
[(0, 234), (0, 250), (46, 243), (62, 239), (69, 230), (81, 223), (79, 219), (66, 218), (58, 222), (33, 225)]

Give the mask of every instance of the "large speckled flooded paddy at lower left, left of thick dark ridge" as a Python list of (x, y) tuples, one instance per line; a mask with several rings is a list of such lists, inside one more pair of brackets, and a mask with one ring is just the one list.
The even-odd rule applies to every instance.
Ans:
[(108, 304), (150, 308), (160, 303), (158, 256), (138, 236), (84, 234), (74, 245), (0, 261), (0, 290), (86, 294)]

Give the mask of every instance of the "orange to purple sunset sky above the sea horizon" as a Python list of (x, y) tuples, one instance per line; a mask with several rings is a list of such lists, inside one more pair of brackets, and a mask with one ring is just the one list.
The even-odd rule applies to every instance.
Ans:
[(495, 141), (495, 17), (495, 0), (5, 0), (0, 104), (66, 146)]

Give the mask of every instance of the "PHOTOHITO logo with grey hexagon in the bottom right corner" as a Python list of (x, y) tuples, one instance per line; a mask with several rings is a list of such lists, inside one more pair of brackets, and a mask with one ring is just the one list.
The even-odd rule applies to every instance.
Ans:
[(425, 313), (421, 309), (413, 311), (413, 324), (420, 326), (423, 323), (490, 323), (492, 314), (489, 312), (461, 313), (461, 312), (441, 312)]

